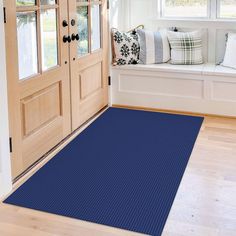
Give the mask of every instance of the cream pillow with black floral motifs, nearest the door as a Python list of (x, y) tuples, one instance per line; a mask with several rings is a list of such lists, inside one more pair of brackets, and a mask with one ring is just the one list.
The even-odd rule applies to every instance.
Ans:
[(136, 31), (120, 32), (112, 29), (113, 65), (137, 64), (139, 61), (139, 42)]

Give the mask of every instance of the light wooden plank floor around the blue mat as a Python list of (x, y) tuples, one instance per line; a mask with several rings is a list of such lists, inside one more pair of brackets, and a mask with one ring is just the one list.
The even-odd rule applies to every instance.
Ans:
[[(0, 204), (0, 235), (137, 234)], [(163, 232), (181, 235), (236, 235), (236, 119), (205, 118)]]

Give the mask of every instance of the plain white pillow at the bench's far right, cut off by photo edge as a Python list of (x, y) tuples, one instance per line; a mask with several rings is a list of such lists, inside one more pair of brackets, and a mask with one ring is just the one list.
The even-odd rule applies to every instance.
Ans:
[(228, 33), (224, 61), (225, 67), (236, 69), (236, 33)]

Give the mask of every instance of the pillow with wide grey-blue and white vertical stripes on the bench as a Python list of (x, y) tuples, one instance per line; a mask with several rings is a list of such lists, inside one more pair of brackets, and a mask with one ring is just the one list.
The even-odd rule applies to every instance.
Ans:
[(142, 64), (159, 64), (170, 60), (170, 46), (166, 30), (147, 31), (137, 30)]

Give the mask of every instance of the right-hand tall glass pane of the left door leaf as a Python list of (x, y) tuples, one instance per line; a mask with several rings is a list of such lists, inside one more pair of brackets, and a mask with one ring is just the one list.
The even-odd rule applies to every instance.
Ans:
[(56, 10), (41, 11), (41, 44), (43, 71), (58, 64)]

